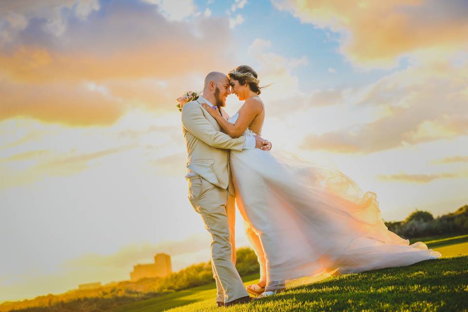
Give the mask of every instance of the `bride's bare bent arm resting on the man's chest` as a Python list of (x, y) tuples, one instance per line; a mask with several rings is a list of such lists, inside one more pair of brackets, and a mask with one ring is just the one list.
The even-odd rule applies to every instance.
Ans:
[(239, 117), (237, 118), (235, 124), (228, 122), (224, 119), (219, 113), (213, 109), (211, 106), (203, 103), (203, 107), (213, 116), (219, 126), (223, 128), (224, 131), (230, 137), (240, 137), (244, 133), (245, 129), (251, 124), (255, 116), (261, 113), (263, 106), (262, 104), (253, 98), (249, 98), (245, 101), (244, 105), (239, 110)]

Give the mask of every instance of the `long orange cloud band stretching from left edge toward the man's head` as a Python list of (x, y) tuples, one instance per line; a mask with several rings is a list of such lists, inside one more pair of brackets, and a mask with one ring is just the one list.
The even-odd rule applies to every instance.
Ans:
[[(207, 68), (222, 68), (213, 43), (198, 43), (197, 38), (140, 43), (132, 49), (99, 56), (87, 51), (51, 51), (45, 47), (20, 46), (0, 54), (0, 68), (13, 81), (44, 84), (48, 82), (106, 81), (113, 79), (173, 78)], [(95, 42), (89, 42), (92, 45)], [(207, 58), (211, 54), (213, 59)]]

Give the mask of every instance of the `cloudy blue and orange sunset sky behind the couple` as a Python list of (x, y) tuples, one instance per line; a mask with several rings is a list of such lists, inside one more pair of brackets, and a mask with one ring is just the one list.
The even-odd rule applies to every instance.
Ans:
[[(385, 220), (468, 204), (465, 0), (0, 2), (0, 302), (210, 259), (176, 98), (247, 64), (273, 149)], [(231, 96), (231, 115), (242, 102)], [(248, 246), (240, 215), (237, 246)]]

